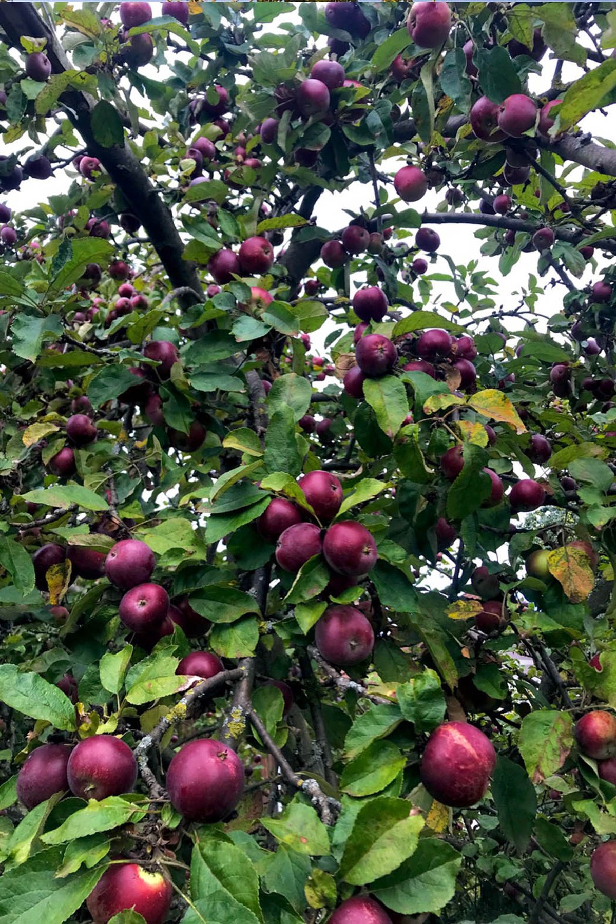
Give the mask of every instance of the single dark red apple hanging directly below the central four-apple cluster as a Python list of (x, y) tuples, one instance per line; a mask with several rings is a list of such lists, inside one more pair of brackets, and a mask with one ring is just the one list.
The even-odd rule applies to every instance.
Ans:
[(350, 667), (365, 661), (374, 648), (374, 632), (355, 606), (330, 606), (315, 627), (315, 641), (325, 661)]

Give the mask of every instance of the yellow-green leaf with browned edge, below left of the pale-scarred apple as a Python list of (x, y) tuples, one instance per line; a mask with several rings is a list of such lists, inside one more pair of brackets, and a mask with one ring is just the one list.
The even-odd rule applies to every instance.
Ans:
[(351, 885), (367, 885), (412, 857), (424, 820), (411, 816), (405, 799), (370, 799), (357, 814), (344, 846), (339, 873)]

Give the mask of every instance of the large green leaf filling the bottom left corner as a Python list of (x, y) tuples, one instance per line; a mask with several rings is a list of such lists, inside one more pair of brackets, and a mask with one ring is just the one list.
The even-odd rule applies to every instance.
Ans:
[(62, 851), (42, 850), (0, 879), (3, 924), (63, 924), (83, 904), (104, 872), (103, 866), (56, 879)]

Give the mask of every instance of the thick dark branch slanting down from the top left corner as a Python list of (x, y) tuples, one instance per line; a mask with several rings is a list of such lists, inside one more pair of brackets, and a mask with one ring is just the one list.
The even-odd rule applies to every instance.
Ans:
[[(21, 49), (23, 35), (46, 39), (45, 52), (54, 74), (72, 69), (65, 51), (54, 31), (42, 21), (33, 4), (0, 4), (0, 28), (9, 42)], [(171, 285), (175, 289), (192, 289), (199, 299), (204, 298), (195, 265), (182, 260), (184, 245), (175, 229), (172, 213), (151, 185), (138, 159), (130, 147), (114, 145), (103, 148), (94, 139), (91, 128), (93, 101), (86, 93), (68, 90), (60, 97), (66, 106), (66, 115), (88, 146), (88, 152), (98, 157), (104, 169), (127, 199), (131, 212), (139, 218), (158, 253)], [(183, 296), (183, 304), (195, 302), (195, 296)]]

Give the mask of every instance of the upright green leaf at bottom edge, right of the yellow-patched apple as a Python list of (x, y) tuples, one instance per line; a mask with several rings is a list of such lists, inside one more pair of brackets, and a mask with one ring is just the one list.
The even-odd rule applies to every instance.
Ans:
[(193, 847), (190, 896), (203, 920), (263, 922), (257, 872), (244, 851), (222, 837), (206, 835)]

